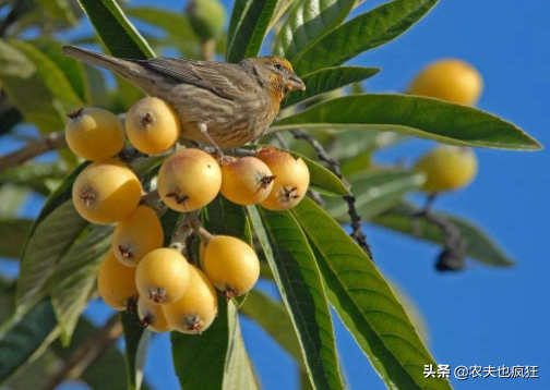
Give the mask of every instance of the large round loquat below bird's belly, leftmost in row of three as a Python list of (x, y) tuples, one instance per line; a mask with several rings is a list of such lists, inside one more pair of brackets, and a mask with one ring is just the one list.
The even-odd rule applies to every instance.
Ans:
[(176, 211), (194, 211), (210, 204), (222, 187), (217, 161), (200, 149), (183, 149), (170, 156), (158, 171), (158, 194)]

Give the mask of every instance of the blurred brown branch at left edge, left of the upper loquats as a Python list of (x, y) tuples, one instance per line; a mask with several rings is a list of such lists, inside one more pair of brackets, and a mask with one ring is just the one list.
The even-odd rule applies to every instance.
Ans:
[(0, 172), (19, 167), (37, 156), (63, 147), (67, 147), (64, 133), (50, 133), (44, 138), (29, 142), (21, 149), (0, 157)]

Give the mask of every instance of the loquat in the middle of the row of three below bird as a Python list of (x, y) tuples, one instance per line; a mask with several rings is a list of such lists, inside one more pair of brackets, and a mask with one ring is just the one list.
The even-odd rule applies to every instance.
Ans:
[(270, 195), (274, 180), (270, 167), (255, 157), (227, 157), (222, 162), (222, 195), (238, 205), (263, 202)]

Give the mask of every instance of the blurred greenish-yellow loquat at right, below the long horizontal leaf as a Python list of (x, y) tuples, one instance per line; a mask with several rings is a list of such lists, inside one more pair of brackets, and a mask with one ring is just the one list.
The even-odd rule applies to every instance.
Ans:
[(439, 146), (421, 157), (415, 168), (426, 173), (422, 191), (439, 193), (468, 185), (477, 174), (478, 161), (470, 148)]

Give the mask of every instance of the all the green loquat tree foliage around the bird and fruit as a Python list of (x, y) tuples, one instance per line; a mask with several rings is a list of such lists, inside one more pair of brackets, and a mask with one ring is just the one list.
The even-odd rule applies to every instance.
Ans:
[[(273, 49), (292, 62), (307, 90), (287, 97), (285, 114), (261, 142), (282, 144), (301, 156), (311, 173), (313, 194), (284, 212), (243, 208), (223, 198), (207, 207), (203, 222), (213, 233), (254, 242), (264, 260), (262, 277), (277, 285), (280, 302), (254, 290), (248, 300), (224, 304), (205, 334), (174, 333), (175, 371), (182, 387), (260, 387), (247, 355), (240, 308), (240, 314), (264, 327), (288, 351), (312, 388), (345, 386), (333, 313), (388, 388), (451, 388), (445, 379), (423, 378), (423, 365), (435, 362), (415, 322), (376, 264), (354, 241), (359, 233), (350, 236), (339, 226), (350, 222), (348, 211), (355, 196), (354, 207), (363, 221), (446, 251), (445, 232), (438, 223), (443, 219), (465, 237), (471, 260), (492, 267), (514, 264), (474, 222), (443, 215), (418, 217), (418, 209), (405, 198), (419, 190), (423, 175), (398, 164), (381, 168), (372, 160), (378, 150), (409, 137), (511, 150), (541, 147), (516, 125), (475, 108), (425, 97), (362, 93), (360, 83), (380, 69), (345, 63), (398, 38), (437, 2), (392, 0), (374, 9), (367, 3), (350, 19), (360, 2), (236, 0), (228, 33), (215, 42), (216, 57), (238, 62)], [(196, 59), (205, 54), (204, 42), (188, 17), (160, 7), (135, 8), (115, 0), (13, 0), (0, 7), (9, 8), (0, 20), (2, 137), (20, 136), (22, 124), (34, 125), (40, 136), (61, 131), (64, 113), (81, 106), (93, 103), (125, 112), (141, 96), (125, 82), (116, 78), (115, 85), (96, 70), (60, 56), (62, 42), (73, 36), (71, 28), (85, 19), (94, 33), (73, 44), (99, 45), (116, 57), (134, 59), (174, 51)], [(152, 25), (162, 34), (142, 34), (134, 22)], [(33, 28), (41, 32), (39, 39), (28, 38)], [(292, 136), (291, 131), (298, 129), (314, 131), (308, 134), (315, 134), (319, 141), (315, 150)], [(324, 151), (331, 159), (323, 157)], [(51, 361), (57, 362), (56, 367), (67, 365), (86, 345), (86, 338), (98, 337), (105, 349), (88, 362), (80, 379), (94, 389), (120, 388), (124, 378), (108, 381), (97, 375), (105, 367), (122, 365), (120, 352), (82, 316), (96, 296), (97, 265), (109, 247), (112, 229), (93, 228), (75, 212), (71, 187), (85, 162), (79, 164), (62, 149), (59, 157), (53, 162), (32, 160), (21, 167), (0, 160), (4, 170), (0, 176), (0, 256), (21, 260), (16, 287), (0, 280), (0, 383), (24, 388), (32, 380), (26, 374), (37, 365)], [(153, 156), (135, 161), (145, 186), (154, 183), (162, 159)], [(44, 208), (35, 220), (19, 218), (17, 199), (31, 193), (46, 196)], [(172, 211), (163, 216), (167, 237), (178, 218)], [(386, 260), (383, 254), (375, 254), (375, 259)], [(116, 337), (123, 332), (125, 340), (127, 368), (121, 371), (128, 374), (128, 387), (138, 389), (150, 332), (132, 315), (121, 315), (121, 322), (122, 327), (112, 327), (118, 329)], [(40, 359), (46, 355), (51, 358)], [(142, 388), (146, 386), (145, 380)]]

